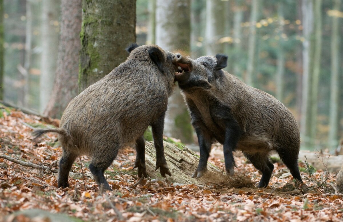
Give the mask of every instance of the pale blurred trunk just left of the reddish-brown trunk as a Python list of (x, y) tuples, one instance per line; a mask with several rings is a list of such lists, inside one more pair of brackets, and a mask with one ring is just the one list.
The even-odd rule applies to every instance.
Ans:
[(56, 72), (60, 0), (44, 0), (42, 5), (42, 61), (39, 111), (43, 113), (50, 99)]

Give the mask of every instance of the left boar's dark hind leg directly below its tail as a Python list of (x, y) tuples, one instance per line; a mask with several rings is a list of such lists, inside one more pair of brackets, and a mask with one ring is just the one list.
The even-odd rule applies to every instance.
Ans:
[(71, 153), (63, 149), (63, 154), (60, 159), (60, 169), (58, 175), (58, 185), (57, 187), (66, 188), (68, 184), (69, 171), (78, 155)]

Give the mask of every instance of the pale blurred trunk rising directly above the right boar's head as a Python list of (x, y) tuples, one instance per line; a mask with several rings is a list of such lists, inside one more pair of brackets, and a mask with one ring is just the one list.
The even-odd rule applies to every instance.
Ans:
[(205, 44), (206, 54), (223, 53), (223, 44), (219, 42), (224, 37), (224, 2), (221, 0), (206, 0)]

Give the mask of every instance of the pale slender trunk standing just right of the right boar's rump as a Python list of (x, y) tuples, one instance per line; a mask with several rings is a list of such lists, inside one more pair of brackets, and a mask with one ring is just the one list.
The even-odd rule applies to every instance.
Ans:
[(310, 93), (311, 93), (311, 63), (312, 63), (312, 32), (313, 32), (313, 4), (312, 0), (304, 0), (301, 6), (303, 12), (303, 92), (300, 120), (300, 133), (303, 144), (308, 147), (310, 139)]

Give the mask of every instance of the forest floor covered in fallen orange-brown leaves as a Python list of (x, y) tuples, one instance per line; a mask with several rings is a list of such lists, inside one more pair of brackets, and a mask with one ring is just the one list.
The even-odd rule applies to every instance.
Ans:
[[(32, 128), (46, 125), (40, 117), (9, 109), (0, 115), (0, 155), (58, 170), (62, 150), (56, 135), (32, 141)], [(209, 159), (219, 169), (224, 169), (222, 153), (221, 146), (214, 146)], [(288, 169), (276, 159), (270, 186), (257, 188), (260, 173), (238, 152), (236, 174), (244, 177), (248, 187), (225, 186), (215, 180), (199, 185), (148, 178), (144, 186), (133, 188), (138, 179), (137, 170), (132, 169), (134, 159), (134, 149), (121, 150), (106, 171), (113, 191), (99, 192), (86, 156), (75, 161), (70, 187), (65, 189), (57, 189), (57, 173), (49, 169), (24, 167), (0, 158), (0, 221), (49, 221), (43, 211), (33, 209), (68, 215), (64, 222), (343, 220), (342, 195), (334, 194), (329, 185), (335, 175), (309, 173), (312, 168), (305, 163), (299, 163), (305, 185), (294, 184)], [(26, 213), (14, 213), (19, 210)]]

